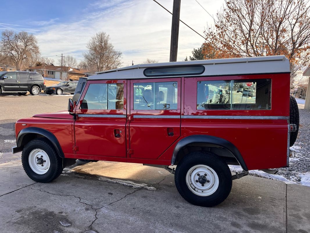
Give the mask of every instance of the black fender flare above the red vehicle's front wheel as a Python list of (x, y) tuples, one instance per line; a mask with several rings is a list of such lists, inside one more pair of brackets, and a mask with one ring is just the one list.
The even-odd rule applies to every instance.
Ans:
[(51, 144), (54, 146), (56, 152), (59, 154), (59, 156), (61, 158), (64, 158), (64, 153), (61, 149), (61, 146), (57, 140), (57, 138), (55, 137), (55, 135), (53, 135), (50, 131), (42, 129), (42, 128), (38, 128), (38, 127), (28, 127), (28, 128), (24, 128), (22, 130), (20, 130), (17, 139), (16, 139), (16, 144), (18, 148), (21, 148), (22, 146), (22, 142), (24, 137), (26, 137), (28, 134), (38, 134), (41, 135), (45, 138), (47, 138)]

